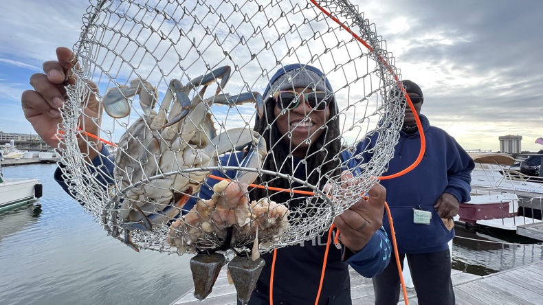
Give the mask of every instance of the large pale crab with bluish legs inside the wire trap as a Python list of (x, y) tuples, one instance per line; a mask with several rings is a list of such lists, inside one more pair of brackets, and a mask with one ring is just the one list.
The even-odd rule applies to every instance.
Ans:
[[(131, 241), (130, 231), (147, 231), (173, 220), (192, 194), (199, 192), (209, 170), (190, 168), (217, 166), (218, 156), (234, 148), (250, 144), (251, 152), (245, 166), (260, 168), (266, 154), (265, 141), (250, 128), (234, 128), (217, 135), (209, 109), (212, 104), (234, 106), (256, 103), (258, 115), (263, 114), (262, 95), (257, 92), (229, 95), (221, 93), (230, 78), (230, 67), (215, 69), (183, 85), (171, 80), (158, 111), (155, 87), (142, 79), (132, 80), (130, 86), (113, 87), (102, 99), (106, 113), (114, 118), (131, 112), (129, 98), (138, 95), (142, 115), (122, 135), (115, 155), (113, 172), (122, 199), (111, 212), (111, 234), (118, 236), (124, 228), (123, 241), (138, 251)], [(221, 79), (212, 98), (203, 99), (207, 87)], [(188, 93), (203, 86), (195, 98)], [(177, 172), (172, 174), (172, 172)]]

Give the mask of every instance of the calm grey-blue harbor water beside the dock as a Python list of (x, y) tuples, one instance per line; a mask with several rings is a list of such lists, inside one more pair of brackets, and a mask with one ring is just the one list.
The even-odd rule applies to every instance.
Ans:
[[(43, 197), (0, 214), (0, 304), (170, 304), (192, 288), (191, 256), (136, 253), (107, 236), (52, 179), (55, 168), (3, 168), (6, 178), (40, 179)], [(454, 269), (485, 275), (543, 260), (536, 240), (456, 232)]]

